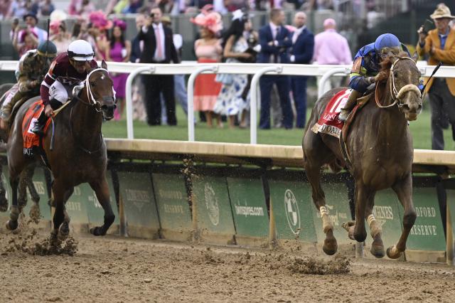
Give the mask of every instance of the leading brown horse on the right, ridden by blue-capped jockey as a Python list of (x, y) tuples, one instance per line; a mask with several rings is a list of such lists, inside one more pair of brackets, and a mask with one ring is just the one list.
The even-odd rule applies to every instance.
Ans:
[[(406, 249), (407, 236), (416, 219), (412, 203), (412, 137), (408, 121), (417, 119), (422, 110), (419, 88), (420, 73), (415, 61), (405, 53), (390, 54), (382, 63), (376, 93), (358, 112), (346, 139), (350, 164), (344, 160), (340, 143), (329, 134), (309, 130), (319, 119), (328, 101), (341, 89), (327, 92), (316, 102), (306, 127), (302, 148), (304, 167), (311, 184), (313, 201), (321, 212), (326, 233), (323, 251), (333, 255), (338, 246), (333, 236), (333, 225), (326, 211), (326, 198), (321, 188), (321, 166), (328, 164), (334, 171), (348, 167), (355, 180), (355, 221), (346, 227), (350, 238), (363, 242), (367, 237), (365, 218), (368, 219), (373, 244), (371, 252), (383, 257), (384, 245), (380, 225), (373, 216), (375, 193), (392, 188), (397, 193), (405, 213), (403, 231), (397, 245), (387, 249), (387, 256), (395, 259)], [(375, 102), (376, 101), (376, 102)]]

